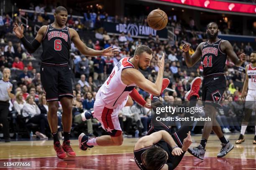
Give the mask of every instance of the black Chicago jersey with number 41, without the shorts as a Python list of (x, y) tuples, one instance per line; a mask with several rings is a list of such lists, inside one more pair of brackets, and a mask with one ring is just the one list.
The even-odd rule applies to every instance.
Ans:
[(203, 75), (214, 75), (224, 73), (227, 55), (220, 49), (220, 43), (224, 40), (219, 39), (213, 44), (206, 41), (202, 45), (202, 66)]

